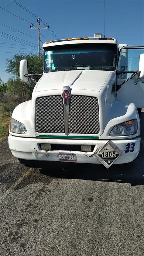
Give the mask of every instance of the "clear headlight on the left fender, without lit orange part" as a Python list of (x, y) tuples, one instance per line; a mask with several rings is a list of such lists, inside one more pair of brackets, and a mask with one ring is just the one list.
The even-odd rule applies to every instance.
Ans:
[(15, 119), (11, 118), (10, 125), (9, 125), (9, 130), (12, 133), (23, 133), (27, 134), (26, 127), (24, 126), (23, 123), (20, 123), (16, 121)]

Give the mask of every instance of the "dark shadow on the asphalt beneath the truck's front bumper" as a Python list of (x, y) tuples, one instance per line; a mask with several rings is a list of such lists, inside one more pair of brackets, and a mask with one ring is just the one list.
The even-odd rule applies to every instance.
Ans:
[(47, 167), (39, 169), (40, 173), (53, 178), (83, 179), (102, 182), (130, 183), (131, 186), (144, 185), (144, 166), (141, 151), (135, 167), (130, 169), (124, 164), (115, 164), (106, 169), (101, 164), (80, 164), (49, 162)]

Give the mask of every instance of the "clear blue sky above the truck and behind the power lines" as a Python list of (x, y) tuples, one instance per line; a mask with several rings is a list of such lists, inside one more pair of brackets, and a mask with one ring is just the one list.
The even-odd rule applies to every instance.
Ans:
[[(93, 37), (94, 33), (104, 35), (104, 0), (16, 0), (16, 2), (46, 22), (59, 39)], [(5, 25), (0, 24), (2, 32), (0, 33), (0, 77), (6, 82), (11, 75), (5, 72), (5, 59), (19, 51), (25, 53), (33, 51), (35, 54), (38, 52), (38, 31), (29, 27), (31, 23), (37, 27), (38, 23), (35, 16), (20, 8), (12, 0), (1, 0), (0, 6), (3, 8), (0, 8), (0, 23)], [(45, 27), (43, 22), (41, 27)], [(143, 46), (143, 28), (144, 0), (105, 0), (105, 37), (116, 38), (118, 43)], [(7, 38), (10, 36), (6, 34), (17, 37), (17, 39), (13, 37), (14, 40), (26, 40), (24, 42), (29, 42), (29, 46)], [(41, 36), (43, 42), (55, 40), (49, 29), (41, 29), (41, 34), (46, 38)], [(41, 46), (42, 44), (41, 42)]]

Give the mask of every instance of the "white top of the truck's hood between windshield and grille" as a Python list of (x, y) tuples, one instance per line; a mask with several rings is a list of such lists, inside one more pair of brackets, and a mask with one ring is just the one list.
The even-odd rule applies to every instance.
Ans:
[(100, 91), (111, 71), (102, 70), (71, 70), (45, 73), (36, 84), (36, 92), (63, 89)]

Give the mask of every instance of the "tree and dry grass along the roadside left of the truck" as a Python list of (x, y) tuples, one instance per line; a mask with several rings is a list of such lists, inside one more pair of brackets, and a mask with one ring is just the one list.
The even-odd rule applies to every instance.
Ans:
[[(6, 83), (3, 83), (0, 78), (0, 140), (8, 137), (7, 126), (9, 127), (14, 108), (20, 103), (31, 99), (35, 86), (32, 81), (23, 83), (19, 78), (19, 63), (22, 59), (28, 61), (29, 73), (43, 72), (42, 55), (39, 58), (38, 55), (34, 55), (33, 53), (19, 53), (15, 54), (11, 59), (6, 60), (6, 72), (12, 76)], [(35, 76), (35, 79), (38, 81), (39, 77)]]

